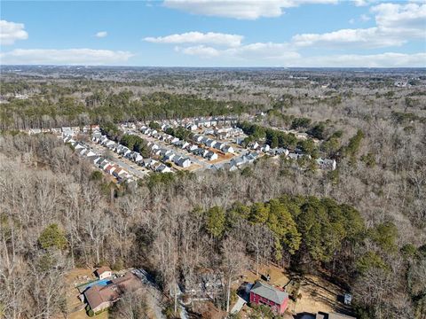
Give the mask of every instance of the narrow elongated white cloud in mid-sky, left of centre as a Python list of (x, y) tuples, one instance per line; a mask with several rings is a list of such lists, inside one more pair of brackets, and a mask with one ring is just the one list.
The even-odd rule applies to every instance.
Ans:
[(227, 35), (222, 33), (186, 32), (180, 35), (167, 35), (159, 37), (146, 37), (144, 40), (151, 43), (203, 43), (226, 46), (239, 46), (244, 37), (242, 35)]

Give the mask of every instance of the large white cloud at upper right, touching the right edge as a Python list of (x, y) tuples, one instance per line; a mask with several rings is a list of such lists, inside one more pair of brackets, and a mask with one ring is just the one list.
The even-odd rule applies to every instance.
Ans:
[(371, 12), (375, 13), (376, 27), (295, 35), (293, 43), (299, 46), (344, 48), (351, 44), (363, 48), (382, 48), (400, 46), (410, 39), (425, 36), (426, 4), (378, 4), (371, 8)]

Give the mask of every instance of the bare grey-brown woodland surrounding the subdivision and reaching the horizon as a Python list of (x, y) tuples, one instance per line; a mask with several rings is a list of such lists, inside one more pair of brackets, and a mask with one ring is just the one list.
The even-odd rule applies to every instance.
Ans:
[[(64, 275), (70, 268), (101, 263), (149, 269), (169, 296), (200, 268), (219, 269), (225, 289), (217, 306), (228, 310), (229, 287), (241, 270), (256, 272), (260, 263), (277, 262), (332, 274), (354, 293), (359, 316), (425, 318), (424, 74), (306, 71), (310, 80), (305, 81), (290, 80), (287, 71), (163, 70), (130, 75), (95, 69), (77, 82), (67, 74), (71, 71), (34, 72), (2, 78), (2, 95), (25, 93), (30, 98), (27, 102), (9, 98), (0, 107), (4, 129), (0, 135), (0, 316), (51, 318), (67, 313)], [(55, 72), (63, 72), (64, 78), (56, 78)], [(100, 80), (99, 74), (105, 78)], [(415, 81), (411, 87), (394, 87), (400, 77)], [(290, 128), (296, 117), (309, 118), (312, 125), (324, 122), (327, 152), (338, 159), (338, 168), (297, 170), (285, 160), (271, 158), (258, 160), (245, 174), (202, 172), (175, 177), (170, 183), (142, 181), (136, 189), (116, 188), (106, 178), (91, 178), (90, 163), (55, 136), (27, 136), (12, 130), (187, 115), (180, 106), (165, 112), (162, 103), (169, 96), (159, 98), (157, 93), (170, 95), (177, 104), (181, 101), (177, 95), (191, 103), (209, 98), (224, 105), (233, 101), (233, 107), (244, 113), (264, 111), (258, 124), (275, 128)], [(113, 101), (129, 105), (118, 107)], [(216, 102), (211, 110), (225, 107)], [(59, 110), (55, 118), (45, 112), (52, 110), (51, 105)], [(59, 114), (65, 109), (77, 111)], [(347, 149), (359, 130), (364, 135), (359, 149), (343, 156), (339, 152)], [(341, 135), (334, 139), (331, 136), (337, 131)], [(364, 220), (364, 236), (337, 241), (339, 248), (327, 248), (332, 251), (330, 258), (315, 260), (312, 254), (290, 252), (281, 245), (284, 241), (277, 243), (279, 230), (268, 227), (271, 221), (253, 222), (249, 209), (248, 217), (235, 214), (236, 203), (250, 208), (283, 195), (292, 198), (292, 205), (297, 198), (333, 198), (338, 205), (353, 206)], [(300, 230), (304, 215), (299, 214), (299, 206), (293, 211), (296, 204), (290, 204), (283, 214), (291, 216)], [(225, 214), (217, 236), (209, 232), (206, 214), (214, 206)], [(308, 214), (312, 207), (302, 212)], [(314, 212), (321, 222), (320, 212)], [(329, 230), (338, 233), (340, 229), (333, 229), (336, 221), (330, 221)], [(58, 230), (50, 235), (50, 245), (42, 245), (40, 238), (52, 224)], [(66, 245), (57, 244), (64, 238)], [(299, 250), (309, 245), (302, 240)], [(144, 295), (126, 296), (117, 303), (115, 314), (135, 317), (146, 311), (146, 302)]]

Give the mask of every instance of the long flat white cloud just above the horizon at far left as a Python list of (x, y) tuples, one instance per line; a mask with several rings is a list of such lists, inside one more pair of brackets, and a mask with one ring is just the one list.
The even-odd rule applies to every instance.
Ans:
[(91, 49), (16, 49), (0, 53), (4, 65), (122, 65), (133, 56), (129, 51)]

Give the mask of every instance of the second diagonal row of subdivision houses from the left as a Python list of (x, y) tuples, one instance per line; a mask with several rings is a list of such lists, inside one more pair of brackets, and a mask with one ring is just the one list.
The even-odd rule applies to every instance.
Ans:
[(125, 159), (129, 159), (135, 162), (140, 167), (146, 167), (154, 172), (159, 173), (171, 172), (170, 167), (167, 167), (158, 160), (144, 159), (144, 157), (139, 152), (131, 151), (127, 146), (115, 143), (108, 137), (101, 135), (100, 132), (95, 132), (92, 134), (92, 141), (105, 146), (107, 149), (111, 150), (112, 152), (116, 152)]

